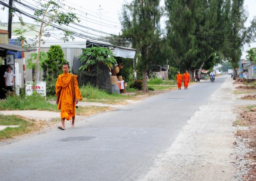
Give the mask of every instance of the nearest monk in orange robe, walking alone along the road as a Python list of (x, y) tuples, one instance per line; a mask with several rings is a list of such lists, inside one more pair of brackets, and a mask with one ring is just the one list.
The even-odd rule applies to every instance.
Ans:
[(78, 100), (82, 100), (80, 89), (77, 83), (77, 75), (68, 72), (69, 65), (64, 63), (62, 66), (63, 74), (59, 75), (56, 81), (56, 103), (61, 109), (60, 118), (62, 126), (59, 129), (65, 130), (65, 119), (72, 117), (71, 127), (75, 127), (75, 108)]

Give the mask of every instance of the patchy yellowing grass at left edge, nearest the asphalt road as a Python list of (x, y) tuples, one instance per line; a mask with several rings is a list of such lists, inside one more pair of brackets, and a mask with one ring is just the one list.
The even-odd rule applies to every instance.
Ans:
[(41, 124), (33, 119), (21, 118), (16, 115), (0, 114), (0, 125), (19, 125), (19, 127), (7, 127), (0, 130), (0, 140), (13, 138), (14, 136), (37, 131)]

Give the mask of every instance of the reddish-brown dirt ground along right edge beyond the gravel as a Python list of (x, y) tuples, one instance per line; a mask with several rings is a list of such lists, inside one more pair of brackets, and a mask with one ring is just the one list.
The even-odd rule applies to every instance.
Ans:
[[(243, 85), (238, 80), (234, 81), (234, 84), (238, 85), (235, 86), (235, 89), (241, 93), (240, 99), (256, 100), (255, 87)], [(236, 137), (242, 140), (247, 149), (243, 155), (247, 169), (247, 174), (243, 176), (243, 180), (256, 180), (256, 104), (239, 106), (236, 110), (238, 117), (234, 126), (244, 127), (243, 130), (236, 132)], [(237, 142), (234, 142), (234, 145), (236, 144)]]

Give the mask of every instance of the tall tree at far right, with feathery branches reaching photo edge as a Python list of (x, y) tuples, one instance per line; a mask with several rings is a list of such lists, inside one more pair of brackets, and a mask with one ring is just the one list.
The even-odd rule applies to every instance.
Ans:
[(247, 19), (247, 11), (243, 8), (243, 1), (232, 0), (229, 18), (227, 19), (228, 31), (225, 34), (225, 46), (223, 47), (223, 54), (229, 59), (233, 67), (234, 80), (236, 75), (235, 68), (238, 68), (243, 45), (251, 42), (255, 37), (256, 17), (251, 21), (249, 27), (244, 26)]

